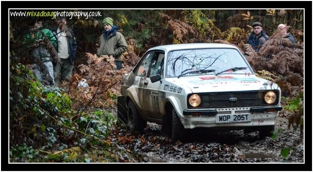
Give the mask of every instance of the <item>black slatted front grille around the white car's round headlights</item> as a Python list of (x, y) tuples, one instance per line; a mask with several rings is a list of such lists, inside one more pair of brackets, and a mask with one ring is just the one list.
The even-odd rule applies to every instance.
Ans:
[[(273, 90), (271, 90), (273, 91)], [(268, 92), (265, 91), (240, 91), (240, 92), (215, 92), (215, 93), (197, 93), (201, 97), (201, 104), (198, 107), (191, 107), (188, 103), (188, 108), (223, 108), (223, 107), (253, 107), (253, 106), (268, 106), (264, 101), (264, 96)], [(270, 105), (277, 105), (279, 100), (279, 91), (276, 93), (276, 101)], [(187, 96), (187, 100), (192, 94)], [(230, 98), (237, 98), (236, 101), (231, 101)]]

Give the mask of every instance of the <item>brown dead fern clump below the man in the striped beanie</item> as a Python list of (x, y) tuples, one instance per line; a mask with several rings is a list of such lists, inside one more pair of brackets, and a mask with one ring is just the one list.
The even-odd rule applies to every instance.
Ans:
[[(133, 51), (131, 54), (134, 54)], [(126, 56), (128, 57), (125, 59), (131, 58), (129, 54)], [(112, 56), (97, 57), (95, 54), (86, 53), (86, 57), (88, 58), (88, 67), (79, 65), (78, 74), (73, 75), (73, 81), (70, 83), (72, 89), (70, 98), (73, 101), (73, 108), (83, 108), (87, 104), (92, 108), (116, 106), (110, 98), (110, 90), (114, 88), (114, 95), (120, 94), (120, 82), (124, 74), (129, 73), (132, 67), (122, 64), (122, 69), (116, 70), (115, 59)], [(82, 74), (84, 75), (82, 76)], [(89, 91), (86, 88), (77, 87), (82, 78), (86, 79)], [(91, 98), (93, 99), (89, 104)]]

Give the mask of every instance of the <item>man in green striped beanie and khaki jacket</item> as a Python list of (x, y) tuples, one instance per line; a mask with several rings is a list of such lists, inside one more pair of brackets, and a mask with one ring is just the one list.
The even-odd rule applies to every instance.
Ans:
[(127, 44), (124, 36), (113, 22), (110, 17), (103, 20), (104, 31), (100, 36), (100, 48), (97, 50), (97, 55), (112, 55), (115, 58), (116, 69), (120, 70), (122, 68), (121, 54), (126, 51)]

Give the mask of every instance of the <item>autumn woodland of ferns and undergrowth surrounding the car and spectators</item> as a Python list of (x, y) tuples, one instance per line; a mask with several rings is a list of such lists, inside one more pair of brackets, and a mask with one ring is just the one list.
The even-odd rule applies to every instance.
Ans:
[[(255, 73), (280, 85), (289, 123), (303, 126), (303, 10), (84, 11), (101, 11), (114, 19), (128, 44), (123, 68), (116, 71), (112, 57), (95, 55), (104, 17), (68, 19), (78, 54), (73, 78), (60, 88), (41, 85), (27, 67), (30, 48), (23, 39), (37, 19), (9, 18), (10, 162), (129, 162), (108, 138), (112, 126), (125, 127), (116, 118), (120, 81), (147, 49), (166, 44), (224, 43), (246, 51)], [(246, 44), (256, 21), (270, 37), (258, 53)], [(276, 30), (279, 24), (289, 26), (296, 44)], [(53, 20), (44, 18), (43, 25), (51, 28)], [(53, 51), (49, 41), (45, 45)], [(86, 79), (88, 87), (78, 87), (81, 79)], [(129, 139), (120, 137), (116, 142)]]

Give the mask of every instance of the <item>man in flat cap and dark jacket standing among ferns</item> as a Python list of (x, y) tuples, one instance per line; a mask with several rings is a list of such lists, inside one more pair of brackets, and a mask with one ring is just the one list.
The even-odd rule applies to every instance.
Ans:
[(247, 39), (247, 43), (251, 45), (251, 47), (257, 52), (261, 48), (262, 44), (264, 44), (268, 40), (268, 36), (262, 30), (262, 24), (260, 22), (255, 22), (252, 24), (253, 31)]

